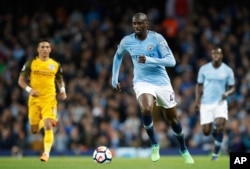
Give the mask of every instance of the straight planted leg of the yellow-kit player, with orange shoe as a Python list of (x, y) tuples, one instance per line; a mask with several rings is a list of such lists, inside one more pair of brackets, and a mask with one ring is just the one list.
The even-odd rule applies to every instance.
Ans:
[(42, 116), (44, 119), (44, 153), (40, 160), (47, 162), (49, 159), (50, 151), (54, 143), (54, 123), (56, 121), (57, 107), (56, 104), (43, 105)]

